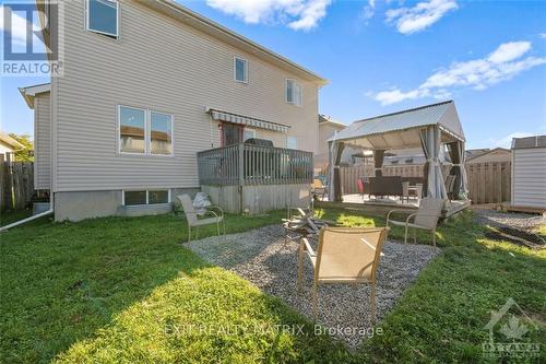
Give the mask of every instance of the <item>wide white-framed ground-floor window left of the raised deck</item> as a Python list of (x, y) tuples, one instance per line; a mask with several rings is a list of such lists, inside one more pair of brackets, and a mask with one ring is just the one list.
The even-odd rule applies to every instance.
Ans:
[(119, 152), (173, 155), (173, 115), (118, 107)]

